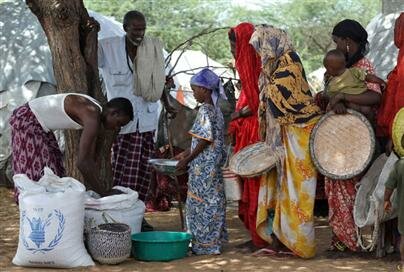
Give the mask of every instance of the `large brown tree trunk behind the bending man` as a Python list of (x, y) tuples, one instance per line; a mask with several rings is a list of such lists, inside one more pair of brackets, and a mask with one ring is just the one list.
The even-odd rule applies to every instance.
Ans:
[[(53, 70), (59, 93), (88, 94), (101, 103), (102, 93), (97, 67), (97, 38), (87, 35), (89, 15), (82, 0), (27, 0), (48, 38)], [(95, 49), (95, 50), (94, 50)], [(94, 52), (95, 51), (95, 52)], [(67, 175), (83, 180), (76, 167), (80, 131), (66, 131), (65, 167)], [(103, 132), (97, 140), (97, 169), (103, 187), (112, 183), (110, 151), (112, 133)], [(86, 184), (87, 185), (87, 184)]]

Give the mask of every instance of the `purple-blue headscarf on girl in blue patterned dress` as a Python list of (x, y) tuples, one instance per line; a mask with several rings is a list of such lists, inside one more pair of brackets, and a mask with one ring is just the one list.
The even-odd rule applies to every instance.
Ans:
[(219, 97), (227, 100), (224, 93), (222, 82), (218, 75), (208, 68), (202, 69), (196, 75), (191, 77), (191, 85), (199, 86), (211, 90), (213, 105), (216, 107)]

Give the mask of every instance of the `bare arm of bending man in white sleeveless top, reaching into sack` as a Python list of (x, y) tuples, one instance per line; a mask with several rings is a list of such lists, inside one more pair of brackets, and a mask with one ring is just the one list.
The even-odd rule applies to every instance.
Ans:
[(66, 113), (83, 126), (77, 155), (77, 168), (91, 188), (105, 195), (97, 177), (96, 140), (100, 129), (101, 112), (89, 100), (80, 96), (67, 96), (65, 99)]

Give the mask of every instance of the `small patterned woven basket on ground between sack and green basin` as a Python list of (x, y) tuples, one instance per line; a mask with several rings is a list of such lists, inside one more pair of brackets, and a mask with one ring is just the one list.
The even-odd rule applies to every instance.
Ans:
[(87, 233), (91, 257), (102, 264), (118, 264), (130, 256), (132, 240), (130, 227), (122, 223), (107, 223)]

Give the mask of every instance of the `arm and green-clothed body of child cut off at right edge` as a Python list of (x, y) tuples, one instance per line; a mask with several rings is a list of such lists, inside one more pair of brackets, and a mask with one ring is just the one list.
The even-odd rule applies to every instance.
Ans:
[[(404, 135), (401, 138), (401, 146), (404, 147)], [(399, 265), (398, 269), (399, 271), (404, 272), (404, 158), (401, 158), (396, 162), (385, 186), (384, 210), (386, 212), (391, 211), (390, 198), (394, 189), (397, 189), (398, 232), (400, 233), (401, 256), (401, 265)]]

